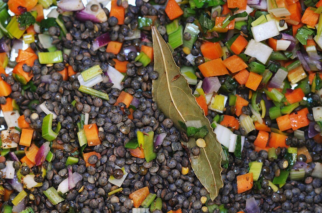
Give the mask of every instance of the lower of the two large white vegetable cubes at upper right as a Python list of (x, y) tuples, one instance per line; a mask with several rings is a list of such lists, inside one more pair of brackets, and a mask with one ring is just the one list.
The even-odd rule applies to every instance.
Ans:
[(245, 49), (245, 54), (257, 58), (261, 63), (265, 64), (270, 57), (273, 49), (266, 44), (256, 42), (251, 39)]

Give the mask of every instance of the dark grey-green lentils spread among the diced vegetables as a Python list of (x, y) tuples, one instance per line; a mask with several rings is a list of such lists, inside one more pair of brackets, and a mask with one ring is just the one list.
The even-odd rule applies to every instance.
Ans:
[[(155, 2), (164, 5), (166, 1), (156, 0)], [(187, 137), (185, 133), (179, 132), (173, 126), (173, 121), (170, 118), (165, 118), (164, 114), (157, 109), (157, 104), (152, 100), (152, 80), (158, 77), (158, 73), (153, 70), (153, 62), (143, 67), (141, 63), (134, 61), (137, 56), (135, 52), (130, 52), (127, 55), (123, 53), (114, 55), (106, 53), (106, 47), (101, 47), (96, 51), (91, 48), (93, 40), (106, 32), (109, 32), (111, 40), (123, 42), (123, 47), (134, 46), (139, 49), (141, 45), (147, 45), (147, 42), (141, 41), (141, 39), (124, 40), (125, 37), (132, 35), (133, 30), (137, 28), (137, 18), (144, 15), (158, 16), (160, 25), (157, 29), (167, 41), (168, 35), (166, 34), (165, 25), (171, 21), (165, 14), (164, 7), (157, 10), (151, 4), (142, 0), (136, 0), (135, 3), (136, 6), (133, 6), (127, 4), (127, 1), (121, 3), (118, 0), (119, 5), (128, 8), (123, 25), (117, 25), (117, 18), (109, 17), (109, 10), (106, 8), (104, 8), (104, 11), (109, 18), (108, 21), (103, 23), (82, 22), (76, 20), (73, 16), (62, 16), (64, 25), (68, 30), (67, 35), (62, 36), (59, 27), (51, 27), (48, 32), (53, 37), (53, 44), (56, 45), (57, 49), (71, 49), (70, 54), (63, 54), (63, 62), (52, 66), (40, 64), (36, 60), (32, 67), (28, 65), (23, 67), (25, 72), (33, 72), (32, 81), (37, 87), (36, 92), (26, 90), (22, 95), (20, 83), (15, 81), (12, 75), (5, 77), (1, 74), (1, 77), (11, 85), (13, 90), (10, 97), (20, 106), (20, 113), (25, 116), (26, 121), (32, 128), (41, 129), (42, 127), (42, 120), (46, 114), (44, 112), (37, 113), (36, 108), (44, 101), (46, 101), (46, 107), (57, 115), (52, 124), (53, 128), (58, 122), (62, 125), (62, 129), (54, 143), (59, 144), (63, 149), (54, 149), (52, 170), (48, 171), (44, 178), (41, 175), (37, 175), (41, 174), (37, 166), (29, 169), (27, 166), (20, 168), (19, 165), (14, 164), (16, 169), (21, 169), (22, 175), (33, 172), (37, 177), (36, 182), (43, 182), (42, 187), (36, 187), (33, 190), (24, 189), (30, 194), (27, 197), (26, 205), (32, 207), (35, 212), (56, 213), (69, 212), (70, 209), (74, 209), (82, 213), (131, 213), (133, 202), (129, 199), (129, 194), (145, 186), (149, 188), (150, 192), (156, 193), (157, 197), (163, 201), (162, 210), (155, 210), (154, 213), (168, 212), (171, 209), (181, 209), (183, 213), (208, 212), (207, 209), (202, 208), (208, 192), (191, 169), (189, 155), (181, 144), (181, 141), (187, 141)], [(186, 19), (186, 22), (193, 21), (194, 17)], [(181, 21), (180, 24), (185, 26), (186, 22)], [(152, 41), (151, 32), (144, 31), (144, 33), (147, 35), (147, 39)], [(202, 35), (199, 37), (202, 38)], [(189, 35), (185, 35), (184, 38), (189, 40)], [(201, 53), (201, 42), (202, 40), (198, 39), (194, 43), (194, 47), (191, 50), (192, 55), (198, 56)], [(44, 51), (39, 42), (32, 43), (31, 47), (36, 53)], [(191, 65), (185, 59), (186, 54), (183, 52), (182, 47), (176, 48), (173, 56), (179, 67)], [(125, 104), (120, 103), (118, 106), (113, 106), (121, 90), (111, 88), (113, 83), (110, 82), (101, 82), (95, 85), (94, 89), (108, 93), (109, 100), (106, 101), (78, 91), (80, 83), (77, 80), (80, 72), (97, 64), (106, 72), (109, 66), (115, 65), (113, 58), (129, 62), (123, 90), (138, 98), (140, 102), (133, 112), (134, 119), (119, 128), (117, 124), (127, 121), (129, 115), (129, 110)], [(195, 64), (202, 63), (204, 63), (204, 58), (202, 56), (196, 57)], [(62, 71), (66, 64), (71, 65), (73, 70), (78, 73), (72, 75), (68, 81), (63, 81), (62, 75), (57, 71)], [(41, 76), (48, 74), (51, 75), (52, 82), (42, 83)], [(197, 72), (196, 74), (199, 77), (198, 81), (203, 78), (201, 73)], [(34, 100), (39, 100), (39, 103)], [(75, 106), (71, 104), (73, 100), (76, 100)], [(0, 104), (5, 104), (4, 97), (0, 97)], [(121, 107), (124, 107), (124, 112)], [(95, 166), (86, 167), (81, 155), (73, 156), (79, 158), (79, 161), (77, 164), (69, 165), (68, 167), (73, 172), (81, 174), (83, 179), (77, 183), (74, 189), (67, 193), (63, 202), (53, 205), (43, 194), (43, 191), (52, 186), (57, 189), (58, 185), (68, 177), (68, 170), (65, 167), (66, 160), (71, 156), (71, 153), (80, 148), (76, 123), (79, 121), (81, 113), (89, 113), (89, 124), (97, 124), (99, 127), (99, 139), (102, 141), (101, 145), (85, 148), (84, 153), (95, 151), (100, 153), (101, 158), (98, 159), (95, 155), (91, 156), (88, 161)], [(212, 120), (215, 115), (216, 113), (210, 110), (207, 117)], [(6, 128), (3, 118), (0, 118), (0, 123), (5, 125)], [(270, 125), (269, 118), (266, 119), (266, 124)], [(157, 152), (156, 159), (149, 163), (144, 158), (132, 157), (124, 147), (124, 144), (136, 137), (137, 131), (146, 133), (154, 131), (155, 135), (163, 132), (167, 134), (162, 146), (155, 150)], [(260, 206), (261, 212), (322, 212), (322, 183), (318, 178), (309, 176), (304, 183), (288, 180), (282, 188), (277, 192), (273, 192), (272, 188), (268, 186), (268, 181), (272, 181), (274, 174), (277, 174), (280, 169), (284, 169), (283, 162), (285, 159), (283, 156), (287, 149), (277, 148), (278, 159), (269, 160), (267, 151), (254, 151), (253, 141), (255, 138), (256, 136), (251, 134), (247, 137), (242, 159), (234, 158), (233, 155), (230, 155), (228, 168), (223, 168), (222, 171), (224, 186), (217, 198), (209, 201), (208, 205), (212, 203), (217, 205), (224, 204), (229, 213), (234, 213), (245, 211), (246, 199), (254, 197)], [(46, 142), (42, 138), (40, 131), (33, 132), (32, 140), (36, 141), (38, 145)], [(19, 141), (19, 138), (17, 138), (17, 141)], [(292, 146), (305, 145), (313, 161), (321, 159), (321, 144), (317, 144), (311, 139), (300, 141), (295, 137), (288, 138), (288, 144)], [(193, 150), (188, 151), (191, 152), (189, 154), (198, 155), (200, 149), (195, 147)], [(303, 156), (299, 156), (299, 158), (303, 160)], [(238, 194), (236, 176), (248, 173), (248, 163), (251, 161), (263, 162), (260, 175), (260, 178), (262, 178), (261, 187), (260, 189), (254, 187), (247, 192)], [(3, 161), (0, 163), (0, 168), (5, 167), (4, 163)], [(43, 166), (46, 168), (48, 162), (45, 161)], [(128, 175), (121, 186), (123, 190), (108, 196), (108, 192), (118, 188), (108, 182), (110, 175), (117, 176), (120, 174), (120, 171), (115, 168), (116, 166), (124, 166)], [(182, 167), (189, 168), (187, 174), (182, 174)], [(1, 183), (6, 189), (13, 189), (5, 179), (1, 179)], [(17, 194), (18, 192), (14, 191), (5, 204), (13, 205), (11, 201)], [(215, 210), (215, 212), (219, 212), (219, 210)]]

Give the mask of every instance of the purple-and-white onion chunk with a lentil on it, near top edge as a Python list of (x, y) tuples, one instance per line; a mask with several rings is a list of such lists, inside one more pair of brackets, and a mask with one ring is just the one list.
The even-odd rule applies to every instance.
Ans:
[[(99, 6), (99, 9), (94, 12), (90, 9), (90, 7), (96, 4)], [(91, 0), (89, 3), (86, 4), (86, 7), (84, 10), (78, 11), (75, 13), (75, 16), (80, 21), (93, 21), (97, 23), (102, 23), (107, 21), (107, 16), (100, 6), (100, 4), (96, 0)]]

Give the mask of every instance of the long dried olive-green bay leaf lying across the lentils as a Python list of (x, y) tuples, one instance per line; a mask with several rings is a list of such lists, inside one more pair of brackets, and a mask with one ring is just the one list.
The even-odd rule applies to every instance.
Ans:
[[(201, 148), (199, 156), (190, 155), (194, 173), (215, 199), (219, 189), (223, 187), (220, 166), (221, 145), (204, 116), (203, 110), (197, 104), (187, 80), (181, 75), (179, 67), (173, 60), (171, 51), (155, 27), (152, 27), (154, 70), (159, 77), (152, 83), (152, 97), (164, 115), (173, 120), (177, 129), (184, 130), (181, 122), (200, 120), (206, 125), (209, 133), (205, 136), (206, 147)], [(179, 77), (177, 77), (179, 75)], [(172, 81), (173, 79), (175, 81)], [(196, 146), (196, 139), (190, 137), (189, 150)]]

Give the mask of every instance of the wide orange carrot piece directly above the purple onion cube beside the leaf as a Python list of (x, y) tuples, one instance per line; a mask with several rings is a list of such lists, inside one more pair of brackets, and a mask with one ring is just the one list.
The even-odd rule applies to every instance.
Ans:
[(221, 58), (217, 58), (208, 61), (204, 64), (201, 64), (198, 66), (198, 68), (204, 77), (213, 77), (229, 74)]

